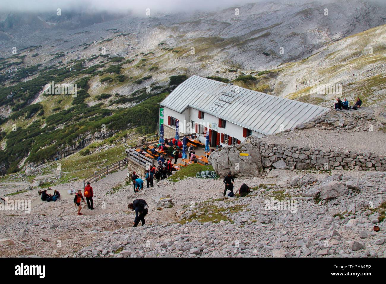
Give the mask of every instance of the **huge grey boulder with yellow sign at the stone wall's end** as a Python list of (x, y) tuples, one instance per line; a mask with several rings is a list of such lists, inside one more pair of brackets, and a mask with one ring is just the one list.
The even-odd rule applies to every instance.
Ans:
[[(246, 153), (248, 156), (240, 156)], [(229, 145), (210, 154), (209, 163), (220, 176), (232, 175), (256, 177), (262, 173), (260, 141), (256, 136), (248, 136), (243, 144)]]

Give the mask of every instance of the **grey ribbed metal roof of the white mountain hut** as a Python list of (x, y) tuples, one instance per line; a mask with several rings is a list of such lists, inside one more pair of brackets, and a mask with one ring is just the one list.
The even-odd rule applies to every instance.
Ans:
[(196, 75), (178, 85), (161, 105), (179, 113), (191, 107), (265, 135), (292, 128), (327, 111), (318, 105), (236, 89)]

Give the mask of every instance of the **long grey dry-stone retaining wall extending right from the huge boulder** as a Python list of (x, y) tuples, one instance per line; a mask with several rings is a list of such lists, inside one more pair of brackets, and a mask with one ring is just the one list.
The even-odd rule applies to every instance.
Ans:
[[(316, 170), (386, 170), (386, 157), (349, 150), (331, 151), (307, 147), (260, 143), (264, 168)], [(326, 168), (328, 165), (328, 168)]]

